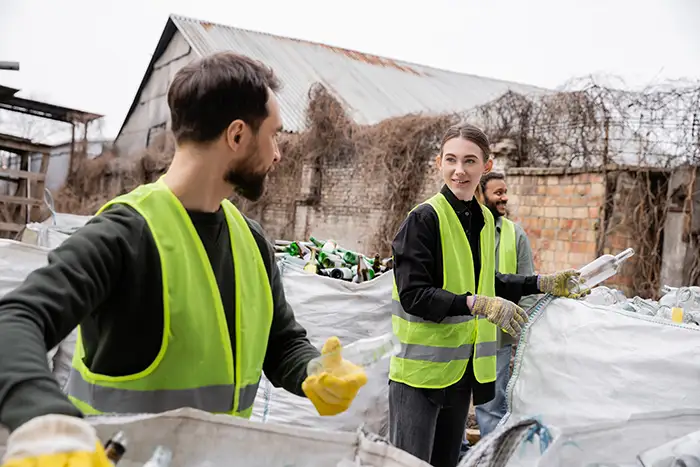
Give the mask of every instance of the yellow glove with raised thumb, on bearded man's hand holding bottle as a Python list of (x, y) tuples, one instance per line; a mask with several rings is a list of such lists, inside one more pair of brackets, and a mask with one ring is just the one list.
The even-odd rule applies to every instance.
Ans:
[(342, 346), (337, 337), (329, 337), (321, 350), (323, 371), (311, 375), (301, 389), (314, 404), (319, 415), (337, 415), (350, 407), (357, 391), (367, 383), (367, 374), (342, 357)]

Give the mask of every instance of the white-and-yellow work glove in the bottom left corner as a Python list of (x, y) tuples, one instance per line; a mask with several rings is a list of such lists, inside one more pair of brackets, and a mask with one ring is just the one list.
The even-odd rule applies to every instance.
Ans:
[(7, 439), (2, 467), (113, 467), (95, 429), (67, 415), (44, 415)]

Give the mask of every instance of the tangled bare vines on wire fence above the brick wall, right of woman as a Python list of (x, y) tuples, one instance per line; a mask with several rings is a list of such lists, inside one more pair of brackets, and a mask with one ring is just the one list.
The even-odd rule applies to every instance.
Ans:
[(508, 92), (467, 118), (492, 142), (512, 140), (517, 149), (509, 162), (517, 167), (700, 164), (698, 83), (630, 92), (585, 78), (560, 92)]

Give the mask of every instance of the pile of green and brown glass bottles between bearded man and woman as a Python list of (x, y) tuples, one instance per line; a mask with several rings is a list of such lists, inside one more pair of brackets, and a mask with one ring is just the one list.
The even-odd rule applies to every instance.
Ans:
[(310, 237), (303, 241), (275, 241), (275, 256), (303, 267), (312, 274), (320, 274), (350, 282), (366, 282), (391, 270), (391, 258), (373, 258), (341, 248), (334, 240)]

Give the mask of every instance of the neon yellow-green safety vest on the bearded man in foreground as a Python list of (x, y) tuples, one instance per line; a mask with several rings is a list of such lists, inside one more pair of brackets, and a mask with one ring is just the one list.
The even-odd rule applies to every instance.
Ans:
[(91, 372), (83, 363), (85, 349), (78, 328), (69, 398), (86, 414), (192, 407), (249, 418), (262, 375), (273, 305), (267, 271), (246, 220), (228, 200), (221, 203), (233, 251), (234, 352), (209, 258), (180, 201), (158, 180), (113, 199), (98, 214), (117, 203), (143, 216), (158, 248), (163, 340), (145, 370), (107, 376)]

